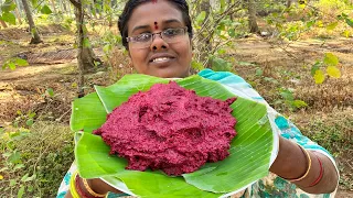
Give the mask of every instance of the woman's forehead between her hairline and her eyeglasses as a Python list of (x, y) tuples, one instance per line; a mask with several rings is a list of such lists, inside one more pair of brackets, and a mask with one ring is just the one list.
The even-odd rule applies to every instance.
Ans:
[(138, 6), (128, 22), (129, 32), (136, 26), (181, 23), (184, 24), (182, 12), (172, 3), (158, 0), (157, 2), (146, 2)]

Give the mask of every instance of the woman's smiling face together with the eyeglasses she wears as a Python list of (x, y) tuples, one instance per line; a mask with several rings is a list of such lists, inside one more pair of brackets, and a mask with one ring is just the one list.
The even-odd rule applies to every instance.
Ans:
[(127, 26), (122, 37), (138, 73), (162, 78), (189, 76), (192, 29), (183, 15), (174, 3), (158, 1), (136, 7), (125, 18), (127, 24), (119, 20), (119, 28)]

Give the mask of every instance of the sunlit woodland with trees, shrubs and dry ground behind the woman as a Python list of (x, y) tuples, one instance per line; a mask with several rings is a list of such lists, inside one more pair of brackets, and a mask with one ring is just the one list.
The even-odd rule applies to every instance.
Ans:
[[(55, 197), (74, 160), (71, 101), (135, 73), (125, 0), (0, 0), (0, 197)], [(193, 72), (244, 77), (335, 156), (353, 195), (352, 0), (192, 0)]]

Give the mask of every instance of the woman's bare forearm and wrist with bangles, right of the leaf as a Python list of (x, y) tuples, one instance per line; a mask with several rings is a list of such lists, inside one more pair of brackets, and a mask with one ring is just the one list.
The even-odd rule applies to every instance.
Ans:
[[(308, 150), (307, 152), (311, 158), (310, 172), (303, 179), (293, 182), (293, 184), (310, 194), (328, 194), (334, 191), (338, 186), (339, 175), (331, 160), (319, 152)], [(318, 157), (322, 163), (323, 176), (317, 185), (309, 187), (320, 176)], [(278, 156), (271, 165), (270, 172), (290, 180), (303, 176), (308, 166), (309, 162), (306, 153), (301, 151), (296, 143), (280, 136)]]

